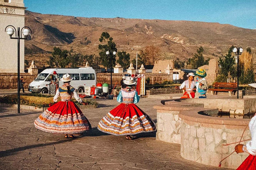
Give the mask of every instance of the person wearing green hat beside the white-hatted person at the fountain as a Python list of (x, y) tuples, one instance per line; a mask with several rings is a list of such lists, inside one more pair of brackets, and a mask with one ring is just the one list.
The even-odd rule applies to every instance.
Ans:
[(196, 98), (206, 98), (206, 91), (208, 89), (206, 77), (206, 71), (204, 69), (199, 69), (196, 71), (197, 82), (196, 82)]

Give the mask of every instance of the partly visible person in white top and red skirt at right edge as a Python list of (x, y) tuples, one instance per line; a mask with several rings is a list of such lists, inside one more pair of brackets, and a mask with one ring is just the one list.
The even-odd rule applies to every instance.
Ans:
[[(256, 115), (256, 114), (255, 114)], [(235, 151), (238, 153), (247, 152), (250, 154), (244, 162), (237, 168), (238, 170), (255, 170), (256, 169), (256, 116), (253, 116), (249, 128), (251, 132), (252, 140), (247, 142), (246, 145), (239, 144), (235, 147)]]

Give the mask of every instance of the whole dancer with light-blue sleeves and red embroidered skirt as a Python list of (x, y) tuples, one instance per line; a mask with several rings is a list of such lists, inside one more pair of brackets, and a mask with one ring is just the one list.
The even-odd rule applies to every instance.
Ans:
[(133, 79), (126, 78), (124, 84), (126, 87), (119, 92), (117, 97), (117, 101), (121, 104), (101, 119), (98, 129), (109, 134), (126, 135), (127, 140), (132, 140), (131, 135), (153, 132), (156, 130), (156, 125), (146, 113), (135, 105), (140, 98), (134, 89)]

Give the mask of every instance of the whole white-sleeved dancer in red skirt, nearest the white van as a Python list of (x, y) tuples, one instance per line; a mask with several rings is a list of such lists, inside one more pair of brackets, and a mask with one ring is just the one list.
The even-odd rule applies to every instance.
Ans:
[(39, 130), (51, 133), (63, 133), (65, 138), (75, 138), (75, 133), (83, 133), (91, 129), (91, 124), (84, 116), (79, 107), (70, 101), (74, 96), (79, 103), (83, 103), (79, 98), (75, 88), (70, 86), (69, 74), (63, 75), (61, 81), (63, 86), (59, 87), (53, 98), (57, 102), (60, 96), (61, 101), (49, 107), (34, 122)]

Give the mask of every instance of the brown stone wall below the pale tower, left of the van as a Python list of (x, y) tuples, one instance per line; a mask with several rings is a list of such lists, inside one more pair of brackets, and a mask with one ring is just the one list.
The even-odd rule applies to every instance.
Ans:
[[(24, 77), (25, 84), (23, 87), (28, 88), (28, 84), (35, 80), (37, 75), (29, 73), (20, 73), (20, 77)], [(17, 89), (18, 88), (17, 73), (0, 73), (0, 89)]]

